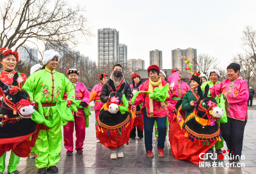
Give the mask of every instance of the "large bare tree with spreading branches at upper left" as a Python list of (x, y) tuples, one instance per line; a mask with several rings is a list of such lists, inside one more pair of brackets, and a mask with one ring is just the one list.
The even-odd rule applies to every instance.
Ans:
[(74, 47), (93, 36), (84, 7), (72, 7), (65, 0), (6, 0), (1, 3), (0, 12), (0, 47), (16, 46), (15, 51), (25, 42), (37, 47), (40, 42), (69, 43)]

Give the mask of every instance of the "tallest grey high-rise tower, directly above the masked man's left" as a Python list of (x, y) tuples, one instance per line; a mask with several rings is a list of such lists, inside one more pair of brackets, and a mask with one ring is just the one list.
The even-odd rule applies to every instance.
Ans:
[(119, 60), (119, 31), (98, 29), (98, 65)]

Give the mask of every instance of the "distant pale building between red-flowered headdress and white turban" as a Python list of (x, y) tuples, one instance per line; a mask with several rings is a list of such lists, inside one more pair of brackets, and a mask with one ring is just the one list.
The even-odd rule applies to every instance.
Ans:
[(34, 65), (38, 61), (37, 48), (30, 48), (28, 45), (22, 45), (18, 48), (19, 60), (26, 65)]

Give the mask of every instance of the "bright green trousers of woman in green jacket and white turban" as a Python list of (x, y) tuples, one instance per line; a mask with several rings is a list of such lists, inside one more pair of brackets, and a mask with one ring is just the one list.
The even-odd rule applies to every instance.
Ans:
[[(50, 117), (50, 116), (49, 116)], [(60, 121), (48, 130), (40, 130), (36, 139), (34, 151), (36, 154), (36, 167), (56, 166), (60, 161), (62, 148), (62, 133)]]

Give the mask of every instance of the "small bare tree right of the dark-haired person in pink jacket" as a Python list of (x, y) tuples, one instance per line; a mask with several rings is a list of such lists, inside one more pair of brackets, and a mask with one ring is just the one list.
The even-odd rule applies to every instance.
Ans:
[(247, 81), (248, 87), (250, 80), (253, 77), (253, 62), (251, 55), (237, 54), (233, 57), (232, 62), (238, 63), (241, 66), (240, 76)]

